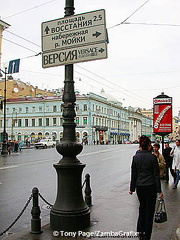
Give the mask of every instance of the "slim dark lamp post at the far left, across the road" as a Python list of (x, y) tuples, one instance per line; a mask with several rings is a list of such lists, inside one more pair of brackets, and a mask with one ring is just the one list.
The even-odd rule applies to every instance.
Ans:
[(3, 128), (3, 143), (2, 143), (2, 150), (1, 155), (7, 155), (7, 133), (6, 133), (6, 76), (7, 76), (7, 68), (5, 68), (5, 71), (0, 69), (2, 73), (4, 73), (4, 128)]

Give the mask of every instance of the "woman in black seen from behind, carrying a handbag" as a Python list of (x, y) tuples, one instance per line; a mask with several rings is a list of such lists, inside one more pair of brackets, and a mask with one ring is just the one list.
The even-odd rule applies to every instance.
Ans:
[(137, 232), (139, 239), (150, 240), (157, 193), (163, 198), (157, 157), (151, 152), (151, 140), (147, 136), (139, 138), (140, 153), (133, 157), (129, 194), (137, 193), (139, 217)]

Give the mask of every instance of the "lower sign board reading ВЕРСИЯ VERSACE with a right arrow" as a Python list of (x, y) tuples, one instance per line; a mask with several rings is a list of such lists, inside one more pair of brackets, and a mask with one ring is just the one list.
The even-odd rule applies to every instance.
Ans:
[(76, 48), (46, 52), (42, 55), (42, 67), (55, 67), (78, 62), (107, 58), (107, 44), (96, 43)]

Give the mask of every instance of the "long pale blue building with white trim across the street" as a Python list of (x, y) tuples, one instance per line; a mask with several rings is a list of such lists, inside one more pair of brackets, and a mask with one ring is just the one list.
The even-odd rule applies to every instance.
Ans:
[[(85, 144), (137, 141), (141, 134), (152, 136), (152, 118), (140, 109), (125, 108), (121, 102), (108, 101), (94, 93), (76, 94), (76, 136)], [(8, 139), (34, 143), (38, 139), (63, 137), (62, 94), (7, 99)], [(3, 128), (3, 112), (0, 117)]]

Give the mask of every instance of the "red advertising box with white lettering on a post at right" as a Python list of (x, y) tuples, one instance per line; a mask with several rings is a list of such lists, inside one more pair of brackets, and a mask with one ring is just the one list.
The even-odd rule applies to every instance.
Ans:
[(172, 97), (164, 93), (153, 99), (153, 128), (161, 136), (172, 133)]

